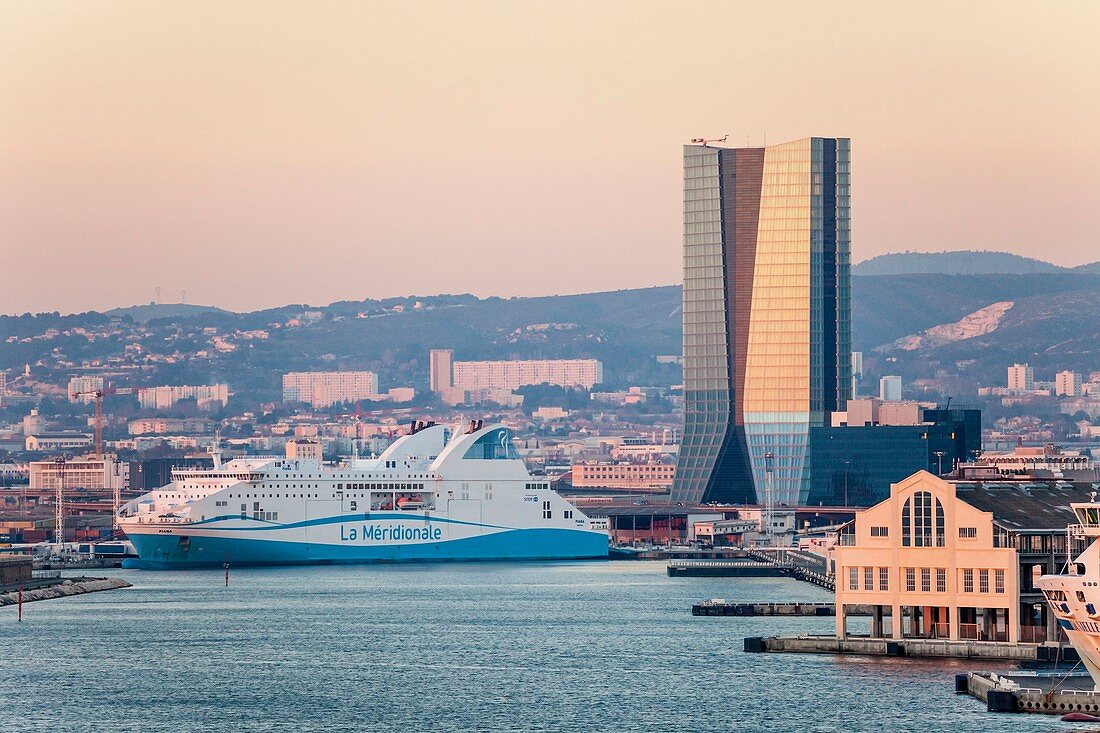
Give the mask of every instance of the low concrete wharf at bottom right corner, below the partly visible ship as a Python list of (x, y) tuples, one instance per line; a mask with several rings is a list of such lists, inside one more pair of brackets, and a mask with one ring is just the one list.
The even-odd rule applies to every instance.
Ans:
[(972, 671), (955, 676), (955, 691), (981, 700), (990, 712), (1100, 714), (1100, 692), (1089, 675)]

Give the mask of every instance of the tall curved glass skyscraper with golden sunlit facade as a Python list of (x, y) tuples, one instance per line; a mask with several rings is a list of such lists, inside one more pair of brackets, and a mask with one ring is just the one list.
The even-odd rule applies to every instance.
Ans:
[(810, 491), (851, 395), (849, 141), (685, 145), (684, 430), (672, 499)]

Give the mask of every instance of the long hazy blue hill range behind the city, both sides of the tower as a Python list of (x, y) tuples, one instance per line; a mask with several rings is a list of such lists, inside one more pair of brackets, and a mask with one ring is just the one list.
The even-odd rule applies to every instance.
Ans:
[[(384, 389), (424, 390), (428, 351), (450, 348), (460, 360), (596, 358), (607, 385), (619, 387), (679, 383), (679, 368), (653, 357), (680, 353), (682, 338), (678, 285), (525, 298), (408, 296), (243, 314), (136, 306), (110, 315), (0, 316), (0, 370), (30, 364), (36, 379), (59, 384), (110, 364), (120, 385), (226, 381), (242, 400), (275, 401), (279, 375), (296, 370), (372, 370)], [(857, 275), (853, 347), (872, 379), (965, 372), (970, 384), (1001, 384), (1013, 361), (1031, 363), (1042, 379), (1056, 369), (1088, 372), (1100, 364), (1100, 274)]]

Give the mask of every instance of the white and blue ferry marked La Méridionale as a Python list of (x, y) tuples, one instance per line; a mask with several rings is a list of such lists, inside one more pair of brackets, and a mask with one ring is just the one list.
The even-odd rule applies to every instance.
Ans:
[(173, 471), (124, 504), (124, 567), (607, 558), (607, 522), (535, 477), (504, 425), (414, 423), (376, 458), (285, 457)]

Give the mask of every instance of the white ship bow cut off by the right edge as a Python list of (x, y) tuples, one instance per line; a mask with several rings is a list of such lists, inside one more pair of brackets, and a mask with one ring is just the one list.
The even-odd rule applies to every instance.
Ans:
[(1091, 502), (1069, 505), (1077, 524), (1066, 532), (1067, 545), (1074, 537), (1091, 537), (1092, 543), (1067, 564), (1065, 573), (1043, 576), (1038, 587), (1100, 691), (1100, 504), (1096, 497), (1092, 492)]

